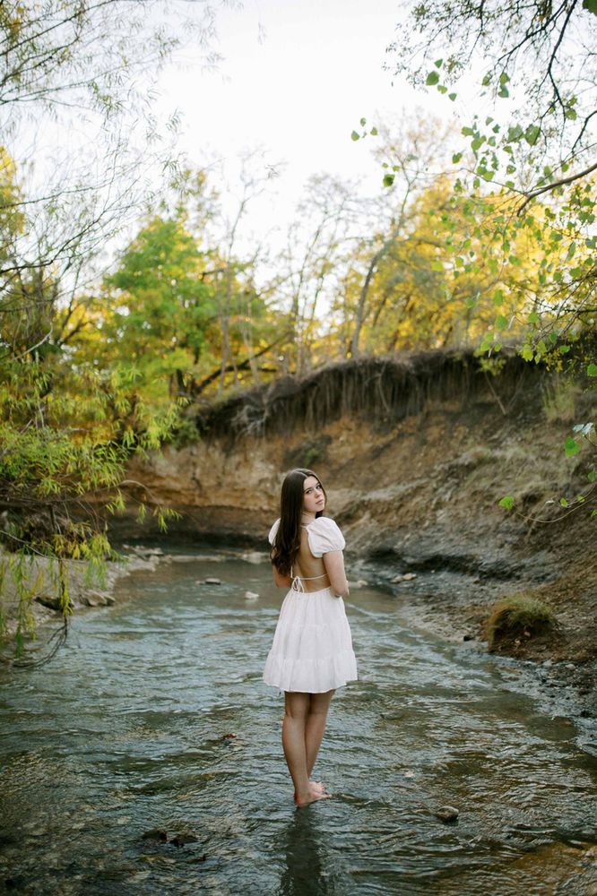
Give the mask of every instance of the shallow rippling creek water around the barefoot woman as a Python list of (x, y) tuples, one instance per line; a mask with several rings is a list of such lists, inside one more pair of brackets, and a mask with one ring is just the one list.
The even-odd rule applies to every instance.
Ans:
[(591, 747), (514, 665), (408, 630), (374, 590), (347, 602), (360, 680), (316, 770), (333, 798), (295, 810), (261, 682), (282, 594), (266, 567), (216, 568), (131, 577), (50, 666), (1, 673), (0, 892), (597, 893)]

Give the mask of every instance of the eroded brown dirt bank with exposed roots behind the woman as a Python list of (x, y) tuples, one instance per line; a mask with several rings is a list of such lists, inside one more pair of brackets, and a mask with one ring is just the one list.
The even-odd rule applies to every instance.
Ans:
[[(483, 638), (499, 597), (538, 597), (552, 607), (555, 630), (498, 649), (572, 663), (588, 694), (597, 656), (594, 498), (574, 513), (558, 501), (586, 491), (590, 449), (567, 458), (562, 445), (572, 423), (594, 413), (591, 401), (517, 358), (498, 376), (474, 358), (441, 353), (347, 362), (201, 409), (201, 438), (136, 461), (130, 478), (143, 488), (131, 495), (182, 513), (169, 538), (263, 549), (284, 471), (315, 469), (354, 577), (375, 578), (419, 624), (460, 640)], [(515, 513), (497, 506), (503, 495), (515, 496)], [(149, 534), (130, 516), (115, 533)]]

